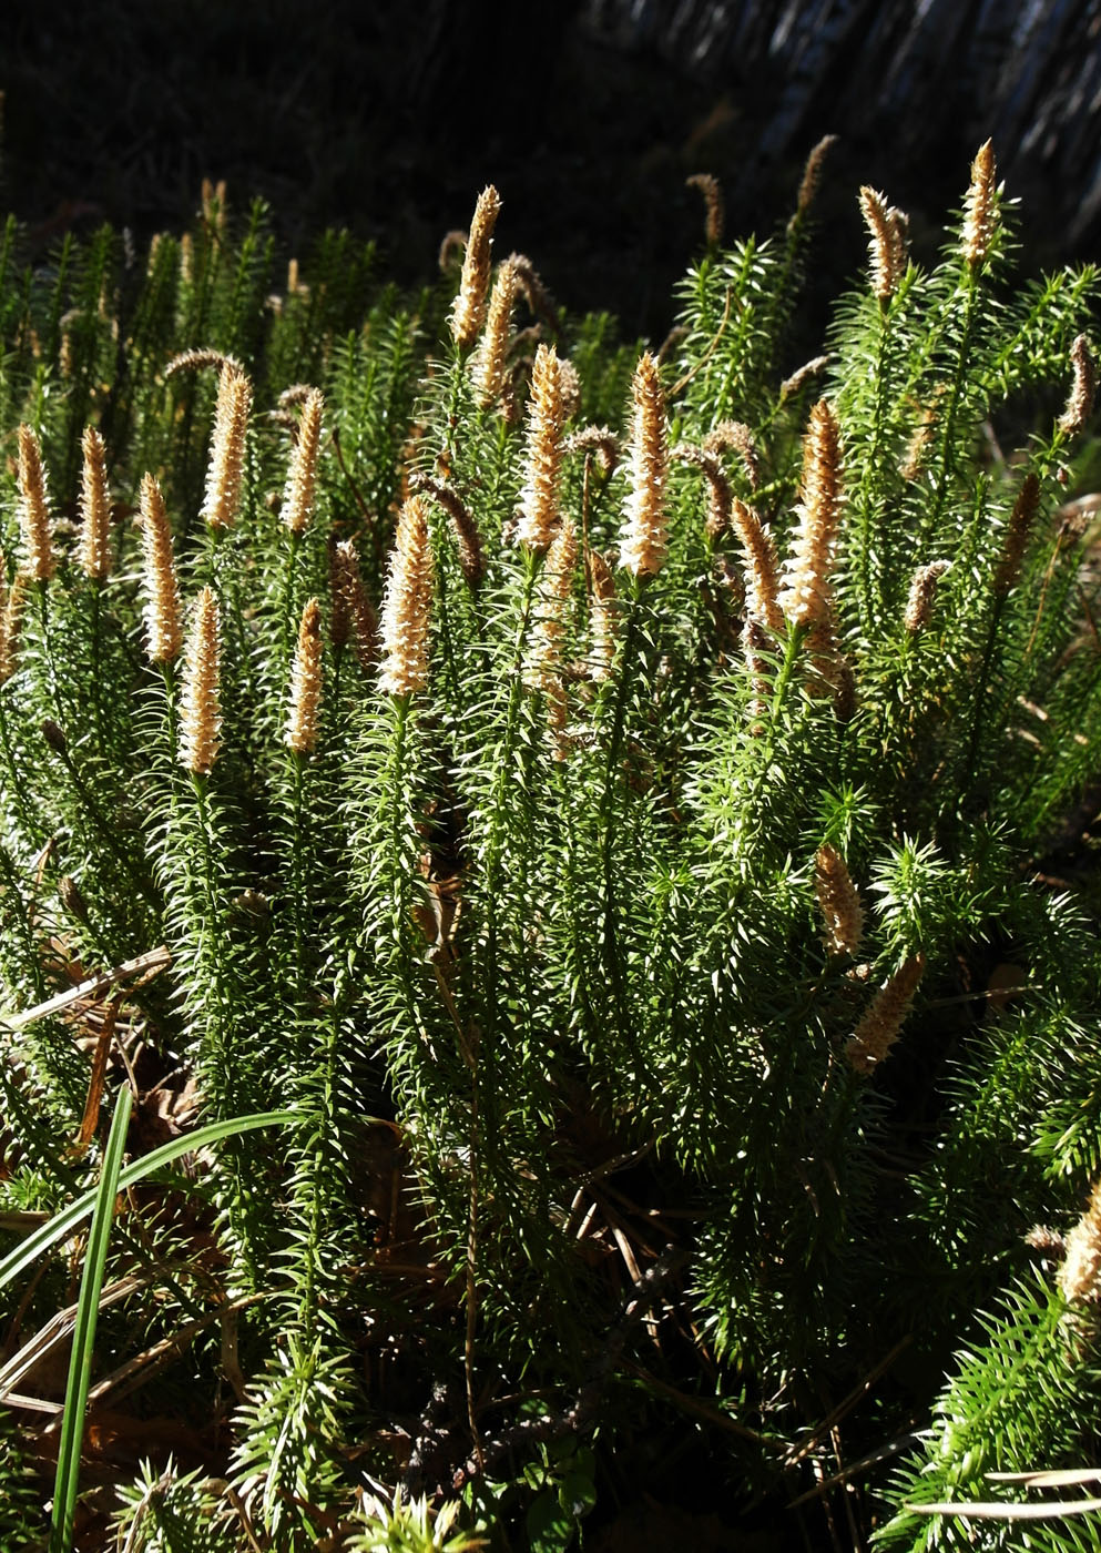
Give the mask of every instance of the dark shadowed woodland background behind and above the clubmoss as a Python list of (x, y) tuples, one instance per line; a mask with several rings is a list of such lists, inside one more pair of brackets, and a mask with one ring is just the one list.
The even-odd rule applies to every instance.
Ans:
[(699, 245), (685, 177), (766, 233), (826, 132), (831, 289), (860, 183), (930, 253), (986, 135), (1034, 264), (1101, 233), (1101, 0), (9, 0), (0, 47), (3, 197), (43, 247), (179, 227), (210, 175), (290, 247), (348, 225), (415, 280), (492, 180), (502, 252), (657, 334)]

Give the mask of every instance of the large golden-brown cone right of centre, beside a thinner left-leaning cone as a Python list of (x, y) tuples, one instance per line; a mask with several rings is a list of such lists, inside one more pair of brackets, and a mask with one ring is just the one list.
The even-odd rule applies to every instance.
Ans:
[(811, 410), (803, 439), (800, 526), (783, 575), (780, 607), (794, 626), (831, 617), (829, 567), (842, 502), (842, 452), (834, 412), (825, 399)]

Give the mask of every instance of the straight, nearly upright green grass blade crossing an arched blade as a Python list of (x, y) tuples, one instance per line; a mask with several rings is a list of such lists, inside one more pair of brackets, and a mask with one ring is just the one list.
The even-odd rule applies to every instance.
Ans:
[(81, 1472), (81, 1441), (84, 1440), (84, 1409), (89, 1401), (92, 1379), (92, 1348), (99, 1315), (99, 1292), (107, 1266), (107, 1242), (115, 1216), (126, 1127), (130, 1120), (130, 1090), (118, 1093), (110, 1137), (102, 1157), (99, 1185), (95, 1190), (92, 1230), (84, 1253), (81, 1297), (76, 1303), (76, 1326), (73, 1328), (73, 1353), (68, 1360), (68, 1385), (65, 1388), (65, 1412), (61, 1421), (61, 1444), (57, 1447), (57, 1480), (53, 1494), (53, 1517), (50, 1522), (50, 1553), (68, 1553), (73, 1542), (73, 1517), (76, 1513), (76, 1489)]

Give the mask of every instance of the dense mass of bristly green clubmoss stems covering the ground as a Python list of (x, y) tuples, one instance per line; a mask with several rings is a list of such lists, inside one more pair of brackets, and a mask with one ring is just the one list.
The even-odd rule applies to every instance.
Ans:
[[(8, 225), (0, 1232), (123, 1086), (134, 1157), (225, 1126), (118, 1200), (81, 1545), (565, 1548), (677, 1412), (731, 1520), (1087, 1545), (908, 1508), (1084, 1464), (1101, 1404), (1101, 954), (1039, 874), (1101, 775), (1098, 275), (1017, 283), (980, 163), (932, 267), (865, 191), (794, 376), (806, 199), (660, 365), (517, 266), (492, 382), (457, 270), (328, 235), (276, 290), (214, 194), (148, 258)], [(6, 1291), (3, 1547), (79, 1264)]]

